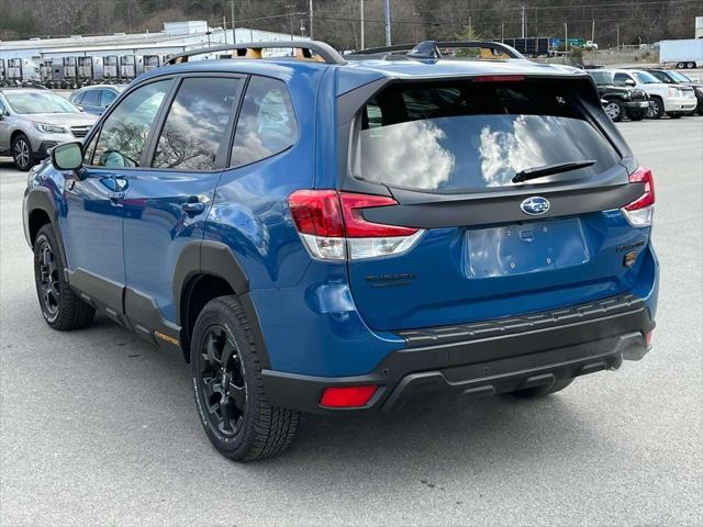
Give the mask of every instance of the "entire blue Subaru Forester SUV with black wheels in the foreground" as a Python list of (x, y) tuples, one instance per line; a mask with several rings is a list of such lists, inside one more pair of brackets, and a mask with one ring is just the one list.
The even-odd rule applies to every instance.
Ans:
[(143, 75), (30, 173), (46, 322), (182, 350), (245, 461), (300, 412), (538, 396), (640, 359), (650, 171), (587, 74), (451, 45), (237, 44)]

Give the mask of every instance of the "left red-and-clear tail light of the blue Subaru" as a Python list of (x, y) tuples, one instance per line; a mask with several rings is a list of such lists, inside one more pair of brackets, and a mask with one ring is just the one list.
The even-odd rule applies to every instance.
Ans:
[(364, 218), (362, 210), (397, 205), (392, 198), (335, 190), (298, 190), (288, 198), (305, 248), (321, 260), (355, 260), (410, 250), (423, 231), (382, 225)]

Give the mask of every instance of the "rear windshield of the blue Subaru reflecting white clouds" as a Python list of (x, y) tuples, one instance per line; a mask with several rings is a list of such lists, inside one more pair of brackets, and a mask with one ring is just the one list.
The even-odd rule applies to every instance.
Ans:
[(601, 173), (620, 156), (588, 121), (572, 87), (391, 86), (361, 109), (352, 172), (390, 187), (439, 192), (506, 187), (520, 170), (566, 161), (596, 162), (531, 183)]

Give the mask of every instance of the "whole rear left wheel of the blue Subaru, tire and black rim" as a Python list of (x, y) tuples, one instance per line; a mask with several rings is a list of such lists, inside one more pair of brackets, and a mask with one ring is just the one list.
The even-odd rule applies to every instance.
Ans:
[(198, 315), (190, 365), (200, 423), (223, 456), (255, 461), (290, 446), (300, 413), (267, 401), (249, 321), (235, 296), (214, 299)]

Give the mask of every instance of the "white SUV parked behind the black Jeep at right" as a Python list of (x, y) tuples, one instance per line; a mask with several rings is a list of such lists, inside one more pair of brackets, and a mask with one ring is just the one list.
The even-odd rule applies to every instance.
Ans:
[(693, 88), (661, 82), (641, 69), (612, 69), (615, 85), (631, 86), (644, 90), (651, 99), (648, 117), (659, 119), (665, 113), (678, 119), (695, 110), (698, 100)]

